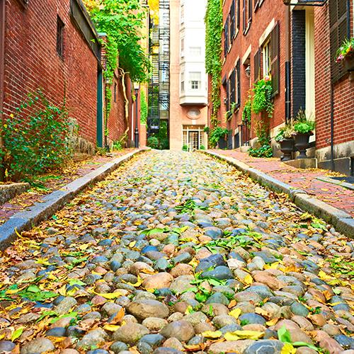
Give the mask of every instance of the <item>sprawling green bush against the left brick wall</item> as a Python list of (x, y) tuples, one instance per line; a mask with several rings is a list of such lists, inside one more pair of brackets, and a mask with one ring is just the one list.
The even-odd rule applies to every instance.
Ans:
[(1, 156), (6, 178), (18, 180), (61, 167), (72, 155), (67, 118), (65, 103), (57, 107), (42, 91), (28, 93), (4, 121)]

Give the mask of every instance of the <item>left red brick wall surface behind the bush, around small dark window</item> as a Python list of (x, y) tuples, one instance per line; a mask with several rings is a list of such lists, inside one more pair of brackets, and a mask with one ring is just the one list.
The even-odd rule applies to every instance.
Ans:
[[(42, 89), (67, 107), (79, 134), (96, 145), (97, 59), (69, 16), (69, 0), (6, 0), (4, 114), (29, 91)], [(64, 59), (57, 54), (57, 16), (64, 22)]]

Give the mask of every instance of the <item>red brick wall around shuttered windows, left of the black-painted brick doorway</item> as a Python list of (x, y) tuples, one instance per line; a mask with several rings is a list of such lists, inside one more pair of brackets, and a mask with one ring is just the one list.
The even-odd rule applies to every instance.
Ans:
[[(254, 0), (253, 7), (254, 7)], [(277, 5), (275, 5), (275, 2)], [(248, 0), (246, 1), (248, 3)], [(275, 110), (273, 118), (270, 119), (270, 128), (280, 125), (284, 121), (285, 117), (285, 94), (284, 94), (284, 83), (285, 83), (285, 6), (282, 4), (281, 0), (263, 0), (261, 2), (261, 7), (254, 11), (252, 9), (252, 21), (249, 26), (249, 30), (244, 35), (243, 33), (243, 24), (242, 24), (242, 8), (243, 0), (239, 1), (240, 11), (239, 11), (239, 33), (236, 35), (236, 38), (233, 41), (232, 47), (227, 54), (227, 57), (224, 59), (224, 54), (222, 58), (224, 59), (224, 64), (222, 67), (222, 78), (227, 75), (234, 69), (236, 59), (239, 58), (242, 60), (245, 52), (248, 50), (249, 45), (251, 45), (250, 53), (250, 64), (251, 64), (251, 76), (246, 75), (245, 69), (246, 65), (241, 63), (240, 69), (240, 80), (241, 80), (241, 105), (239, 110), (234, 113), (231, 122), (227, 123), (227, 127), (230, 129), (235, 129), (237, 125), (241, 124), (242, 119), (242, 109), (244, 108), (244, 102), (248, 98), (248, 91), (253, 85), (253, 57), (256, 54), (257, 50), (260, 47), (260, 38), (262, 34), (267, 29), (271, 21), (279, 21), (280, 25), (280, 88), (278, 95), (274, 98)], [(232, 5), (232, 0), (226, 0), (223, 6), (223, 22), (225, 23), (227, 15), (230, 11)], [(222, 48), (224, 48), (224, 35), (222, 35)], [(224, 113), (226, 112), (226, 106), (223, 101), (226, 97), (226, 92), (222, 87), (222, 108), (219, 111), (219, 120), (225, 123)], [(254, 132), (254, 121), (260, 119), (260, 116), (252, 115), (252, 127), (251, 127), (251, 137), (255, 137)]]

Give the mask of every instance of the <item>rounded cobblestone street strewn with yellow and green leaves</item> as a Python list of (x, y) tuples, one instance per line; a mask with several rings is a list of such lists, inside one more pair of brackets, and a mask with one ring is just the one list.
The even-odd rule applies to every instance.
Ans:
[(353, 353), (353, 251), (228, 164), (144, 152), (2, 254), (0, 353)]

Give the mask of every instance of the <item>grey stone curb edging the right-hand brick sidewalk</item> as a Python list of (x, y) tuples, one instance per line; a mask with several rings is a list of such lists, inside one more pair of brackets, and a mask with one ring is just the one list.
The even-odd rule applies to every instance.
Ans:
[(343, 212), (343, 210), (339, 210), (326, 202), (313, 198), (304, 190), (294, 188), (291, 185), (279, 181), (263, 171), (253, 169), (251, 166), (237, 159), (233, 159), (232, 157), (222, 156), (216, 152), (200, 151), (200, 153), (213, 156), (222, 161), (227, 161), (239, 171), (249, 174), (253, 181), (258, 182), (261, 185), (274, 190), (275, 192), (286, 193), (290, 196), (292, 202), (294, 202), (295, 205), (300, 207), (302, 210), (310, 212), (311, 214), (316, 215), (316, 217), (321, 217), (321, 219), (324, 219), (326, 222), (329, 222), (329, 224), (332, 224), (336, 228), (336, 231), (341, 232), (351, 239), (354, 239), (354, 219), (346, 212)]

